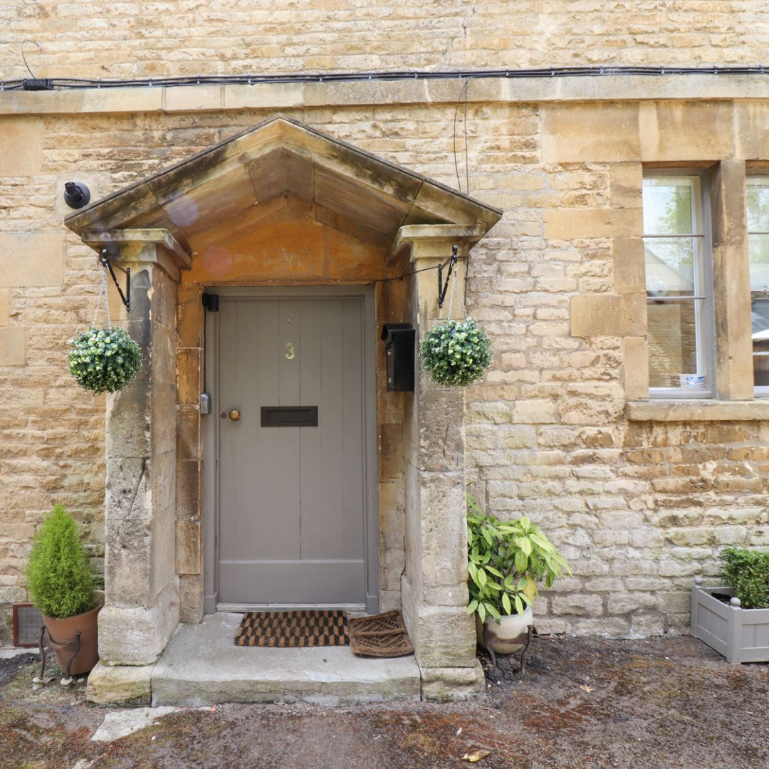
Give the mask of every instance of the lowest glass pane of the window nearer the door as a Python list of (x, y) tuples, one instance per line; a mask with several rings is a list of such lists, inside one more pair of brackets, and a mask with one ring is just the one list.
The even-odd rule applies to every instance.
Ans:
[(650, 387), (677, 388), (681, 374), (702, 373), (697, 370), (697, 323), (703, 305), (701, 299), (649, 299)]

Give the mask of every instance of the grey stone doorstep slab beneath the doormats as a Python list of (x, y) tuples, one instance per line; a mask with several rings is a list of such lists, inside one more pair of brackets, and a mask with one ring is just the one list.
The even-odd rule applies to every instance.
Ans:
[(211, 614), (181, 625), (152, 673), (152, 704), (201, 706), (224, 702), (351, 705), (418, 701), (413, 655), (356, 657), (350, 647), (275, 649), (235, 646), (241, 614)]

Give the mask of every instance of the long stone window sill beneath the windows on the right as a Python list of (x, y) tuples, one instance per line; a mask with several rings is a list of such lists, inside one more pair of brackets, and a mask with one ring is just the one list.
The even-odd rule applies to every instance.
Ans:
[(626, 414), (633, 422), (718, 422), (769, 420), (769, 400), (628, 401)]

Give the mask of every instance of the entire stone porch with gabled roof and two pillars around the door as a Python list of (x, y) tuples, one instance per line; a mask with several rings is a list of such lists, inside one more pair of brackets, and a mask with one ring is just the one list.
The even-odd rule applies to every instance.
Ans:
[[(135, 666), (154, 664), (178, 621), (199, 622), (209, 598), (203, 559), (214, 518), (203, 499), (214, 484), (203, 481), (201, 293), (368, 284), (403, 275), (410, 259), (419, 262), (414, 277), (380, 283), (375, 305), (424, 333), (438, 316), (437, 274), (424, 268), (440, 265), (454, 244), (467, 258), (499, 218), (468, 195), (275, 116), (65, 219), (86, 244), (131, 268), (131, 311), (118, 320), (145, 354), (141, 374), (107, 402), (103, 675), (119, 681), (122, 666), (135, 677)], [(451, 279), (461, 296), (464, 270)], [(378, 356), (381, 370), (383, 349)], [(404, 565), (391, 558), (381, 569), (392, 573), (391, 600), (402, 597), (423, 695), (460, 696), (483, 686), (465, 611), (464, 394), (427, 378), (415, 390), (397, 401), (402, 422), (382, 428), (393, 436), (378, 449), (390, 501), (381, 498), (381, 530), (369, 526), (366, 536), (384, 548), (408, 532), (408, 548), (398, 545)], [(392, 501), (396, 485), (402, 502)]]

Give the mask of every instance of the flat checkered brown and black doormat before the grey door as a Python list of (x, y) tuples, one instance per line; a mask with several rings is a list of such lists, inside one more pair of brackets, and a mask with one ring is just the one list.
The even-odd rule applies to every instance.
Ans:
[(347, 646), (344, 611), (247, 611), (235, 635), (236, 646)]

